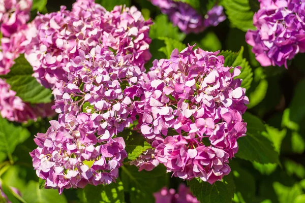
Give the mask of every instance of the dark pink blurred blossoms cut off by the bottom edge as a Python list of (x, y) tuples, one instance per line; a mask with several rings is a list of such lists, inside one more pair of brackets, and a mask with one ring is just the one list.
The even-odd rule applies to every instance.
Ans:
[(159, 192), (154, 193), (156, 203), (199, 203), (196, 197), (185, 184), (180, 184), (178, 192), (175, 189), (162, 188)]

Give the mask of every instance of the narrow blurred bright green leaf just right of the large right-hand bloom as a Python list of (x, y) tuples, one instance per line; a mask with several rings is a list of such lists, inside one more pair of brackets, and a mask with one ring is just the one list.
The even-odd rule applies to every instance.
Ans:
[(258, 67), (254, 71), (254, 81), (252, 83), (255, 84), (255, 89), (249, 93), (249, 101), (248, 109), (251, 109), (258, 105), (266, 96), (268, 89), (268, 81), (265, 79), (266, 75), (264, 74), (263, 67)]

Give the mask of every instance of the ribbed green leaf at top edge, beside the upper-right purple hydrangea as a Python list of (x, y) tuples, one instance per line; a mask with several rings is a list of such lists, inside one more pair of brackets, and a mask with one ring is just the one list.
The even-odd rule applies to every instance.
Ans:
[(249, 0), (225, 0), (222, 1), (228, 19), (232, 27), (248, 31), (256, 29), (253, 25), (254, 12), (251, 10)]

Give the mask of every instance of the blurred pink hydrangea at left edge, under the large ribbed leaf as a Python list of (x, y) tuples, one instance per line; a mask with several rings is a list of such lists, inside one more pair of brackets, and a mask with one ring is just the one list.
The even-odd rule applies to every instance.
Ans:
[(9, 84), (0, 78), (0, 113), (10, 121), (26, 122), (36, 120), (37, 117), (47, 117), (54, 114), (51, 104), (37, 104), (32, 106), (24, 103)]

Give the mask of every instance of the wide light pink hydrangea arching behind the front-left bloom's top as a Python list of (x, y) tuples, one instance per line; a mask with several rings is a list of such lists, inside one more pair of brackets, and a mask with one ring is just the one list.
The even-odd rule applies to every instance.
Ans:
[(151, 57), (151, 24), (136, 7), (116, 6), (107, 12), (94, 0), (78, 0), (72, 11), (61, 7), (59, 12), (34, 19), (28, 28), (31, 36), (26, 36), (29, 49), (25, 57), (34, 67), (37, 80), (50, 88), (58, 81), (67, 81), (65, 66), (79, 55), (78, 50), (86, 52), (100, 43), (116, 54), (132, 54), (130, 62), (143, 70)]

